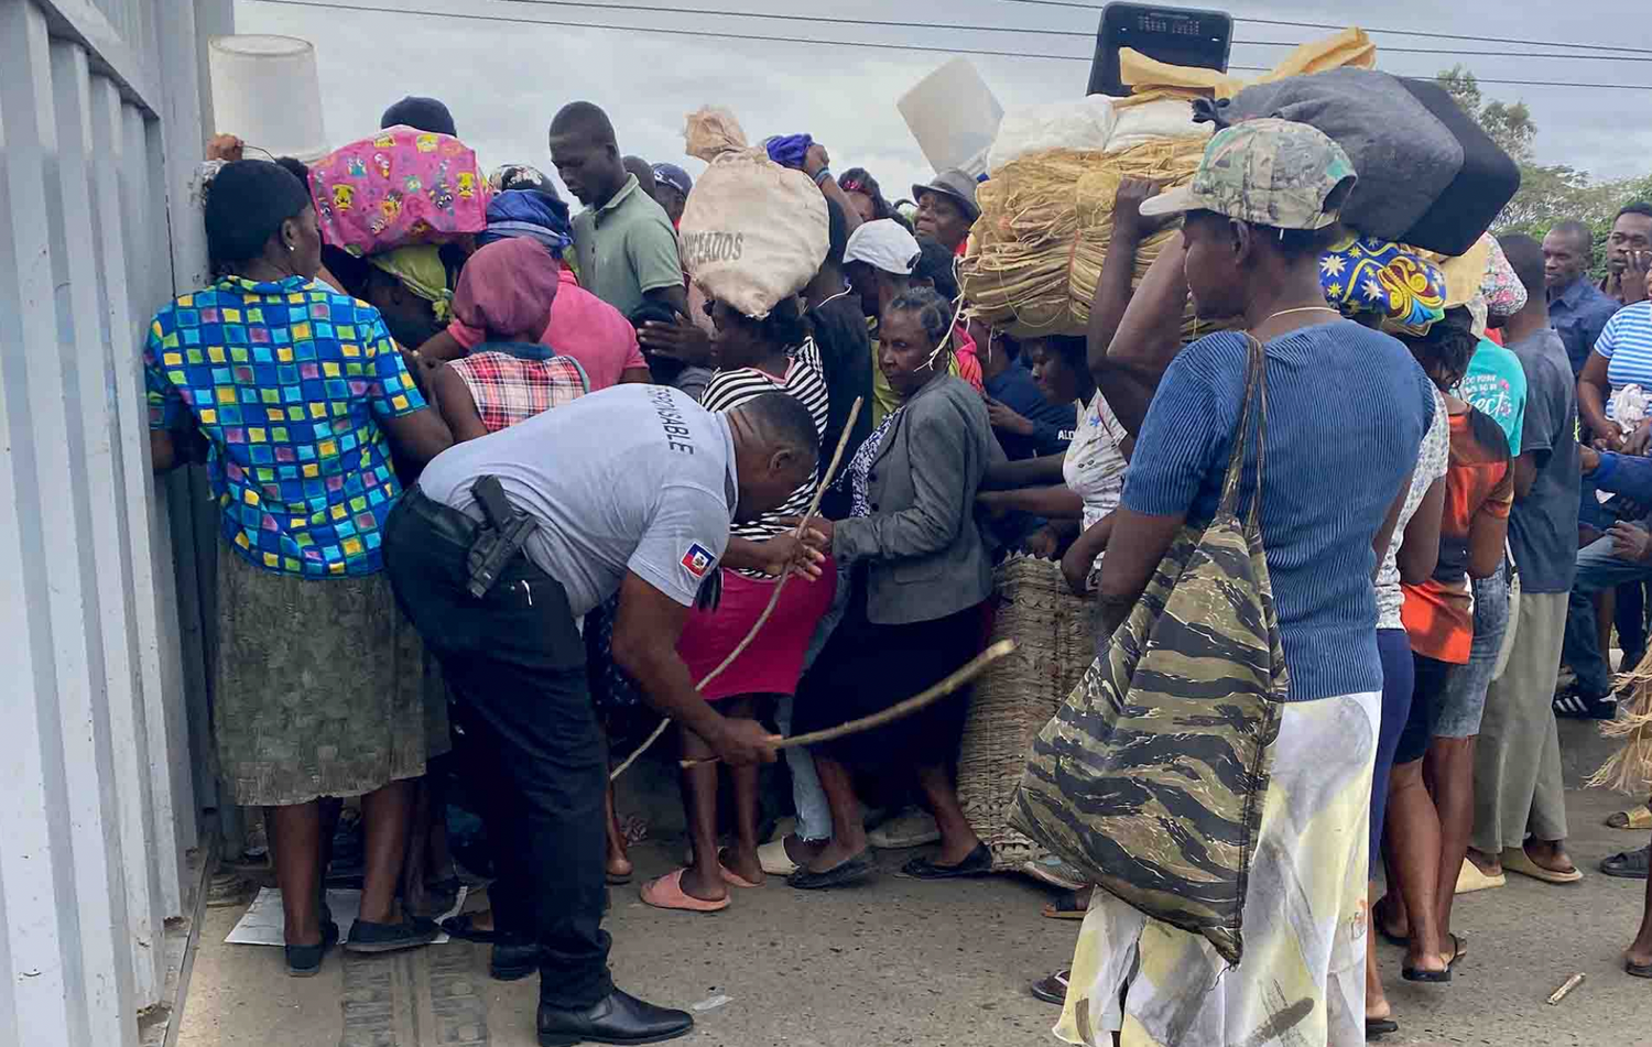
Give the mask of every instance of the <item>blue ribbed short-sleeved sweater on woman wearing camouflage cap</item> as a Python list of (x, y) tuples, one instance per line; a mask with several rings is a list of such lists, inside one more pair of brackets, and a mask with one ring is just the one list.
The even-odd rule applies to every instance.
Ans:
[[(1194, 522), (1216, 514), (1246, 357), (1244, 335), (1222, 332), (1170, 365), (1130, 459), (1128, 509)], [(1262, 542), (1294, 702), (1383, 689), (1371, 542), (1432, 415), (1429, 380), (1396, 339), (1336, 320), (1267, 343)], [(1254, 441), (1239, 490), (1242, 517)]]

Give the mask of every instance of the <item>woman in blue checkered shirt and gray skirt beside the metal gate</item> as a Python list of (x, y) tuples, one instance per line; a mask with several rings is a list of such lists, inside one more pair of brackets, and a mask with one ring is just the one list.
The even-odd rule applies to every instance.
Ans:
[[(206, 198), (225, 272), (155, 314), (144, 350), (157, 471), (202, 461), (221, 510), (213, 727), (235, 803), (264, 806), (287, 971), (314, 974), (339, 928), (322, 870), (339, 804), (362, 796), (367, 884), (345, 948), (423, 945), (398, 917), (413, 779), (446, 750), (423, 649), (395, 606), (380, 528), (416, 462), (453, 443), (378, 312), (317, 282), (309, 192), (264, 160)], [(439, 685), (434, 689), (439, 694)], [(434, 697), (433, 694), (433, 697)]]

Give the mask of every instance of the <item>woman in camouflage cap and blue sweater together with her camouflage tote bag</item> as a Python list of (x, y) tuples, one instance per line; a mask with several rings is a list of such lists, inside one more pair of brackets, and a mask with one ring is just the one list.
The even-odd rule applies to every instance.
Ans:
[[(1023, 784), (1023, 814), (1056, 829), (1044, 842), (1066, 837), (1104, 887), (1056, 1030), (1072, 1044), (1365, 1042), (1371, 578), (1434, 398), (1399, 342), (1325, 306), (1317, 264), (1353, 180), (1318, 130), (1249, 121), (1211, 139), (1191, 187), (1142, 206), (1188, 213), (1199, 312), (1249, 334), (1165, 372), (1102, 570), (1107, 626), (1130, 624), (1092, 677), (1117, 694), (1120, 657), (1137, 661), (1117, 699), (1074, 692)], [(1218, 514), (1231, 461), (1247, 497), (1227, 510), (1249, 528)], [(1186, 525), (1213, 519), (1189, 550)]]

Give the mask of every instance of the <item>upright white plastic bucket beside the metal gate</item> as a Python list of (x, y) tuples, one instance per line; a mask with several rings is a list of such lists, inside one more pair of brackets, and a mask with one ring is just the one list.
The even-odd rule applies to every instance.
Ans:
[(332, 152), (320, 117), (320, 76), (311, 41), (213, 36), (206, 54), (216, 132), (233, 134), (253, 147), (246, 159), (266, 160), (263, 152), (268, 152), (309, 163)]

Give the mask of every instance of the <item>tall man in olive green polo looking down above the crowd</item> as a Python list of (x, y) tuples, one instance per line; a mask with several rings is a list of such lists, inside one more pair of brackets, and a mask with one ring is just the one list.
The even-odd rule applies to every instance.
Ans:
[(624, 168), (608, 114), (570, 102), (550, 122), (550, 160), (585, 205), (573, 220), (580, 284), (629, 317), (646, 301), (687, 315), (677, 235)]

